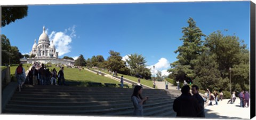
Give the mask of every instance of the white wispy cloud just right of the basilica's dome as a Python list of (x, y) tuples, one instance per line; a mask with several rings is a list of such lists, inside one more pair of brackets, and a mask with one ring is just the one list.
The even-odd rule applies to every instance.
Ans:
[(72, 42), (72, 38), (75, 37), (75, 25), (73, 27), (65, 29), (65, 31), (52, 31), (49, 35), (50, 41), (53, 41), (53, 44), (56, 47), (56, 51), (59, 52), (59, 56), (69, 53), (71, 51), (70, 43)]

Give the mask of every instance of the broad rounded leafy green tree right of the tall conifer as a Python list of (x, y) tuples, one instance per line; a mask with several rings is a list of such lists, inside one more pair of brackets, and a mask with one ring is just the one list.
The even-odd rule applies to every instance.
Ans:
[(229, 67), (240, 63), (240, 43), (236, 36), (224, 36), (221, 31), (214, 31), (206, 37), (205, 46), (217, 55), (217, 63), (222, 77), (229, 77)]

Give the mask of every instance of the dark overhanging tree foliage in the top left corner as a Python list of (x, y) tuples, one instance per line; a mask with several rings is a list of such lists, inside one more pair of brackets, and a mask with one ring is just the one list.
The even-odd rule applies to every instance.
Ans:
[(1, 27), (9, 25), (11, 22), (15, 22), (17, 19), (27, 17), (28, 6), (2, 6), (2, 24)]

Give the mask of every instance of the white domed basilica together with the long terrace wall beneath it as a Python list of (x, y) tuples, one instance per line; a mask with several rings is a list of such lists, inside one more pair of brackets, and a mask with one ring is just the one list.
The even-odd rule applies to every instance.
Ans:
[[(50, 44), (51, 43), (51, 44)], [(43, 33), (39, 36), (38, 44), (35, 43), (32, 47), (32, 51), (29, 52), (29, 55), (35, 54), (35, 58), (22, 58), (20, 59), (21, 63), (60, 63), (62, 65), (71, 66), (74, 65), (74, 60), (68, 59), (59, 59), (59, 52), (56, 51), (53, 41), (50, 42), (48, 35), (45, 33), (45, 28), (43, 27)]]

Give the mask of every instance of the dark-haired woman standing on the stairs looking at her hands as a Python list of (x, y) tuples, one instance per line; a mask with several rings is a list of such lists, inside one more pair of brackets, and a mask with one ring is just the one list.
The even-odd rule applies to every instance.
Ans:
[(148, 97), (145, 97), (142, 99), (141, 97), (142, 93), (142, 86), (136, 85), (133, 90), (132, 94), (132, 103), (134, 106), (133, 115), (134, 116), (143, 116), (143, 103), (146, 102)]

